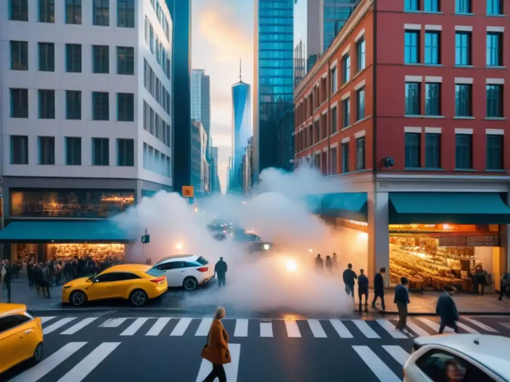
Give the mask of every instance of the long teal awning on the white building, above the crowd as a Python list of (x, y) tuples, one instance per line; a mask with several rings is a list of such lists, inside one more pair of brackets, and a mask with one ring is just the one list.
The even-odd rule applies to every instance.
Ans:
[(0, 241), (114, 242), (131, 239), (107, 220), (12, 222), (0, 231)]

